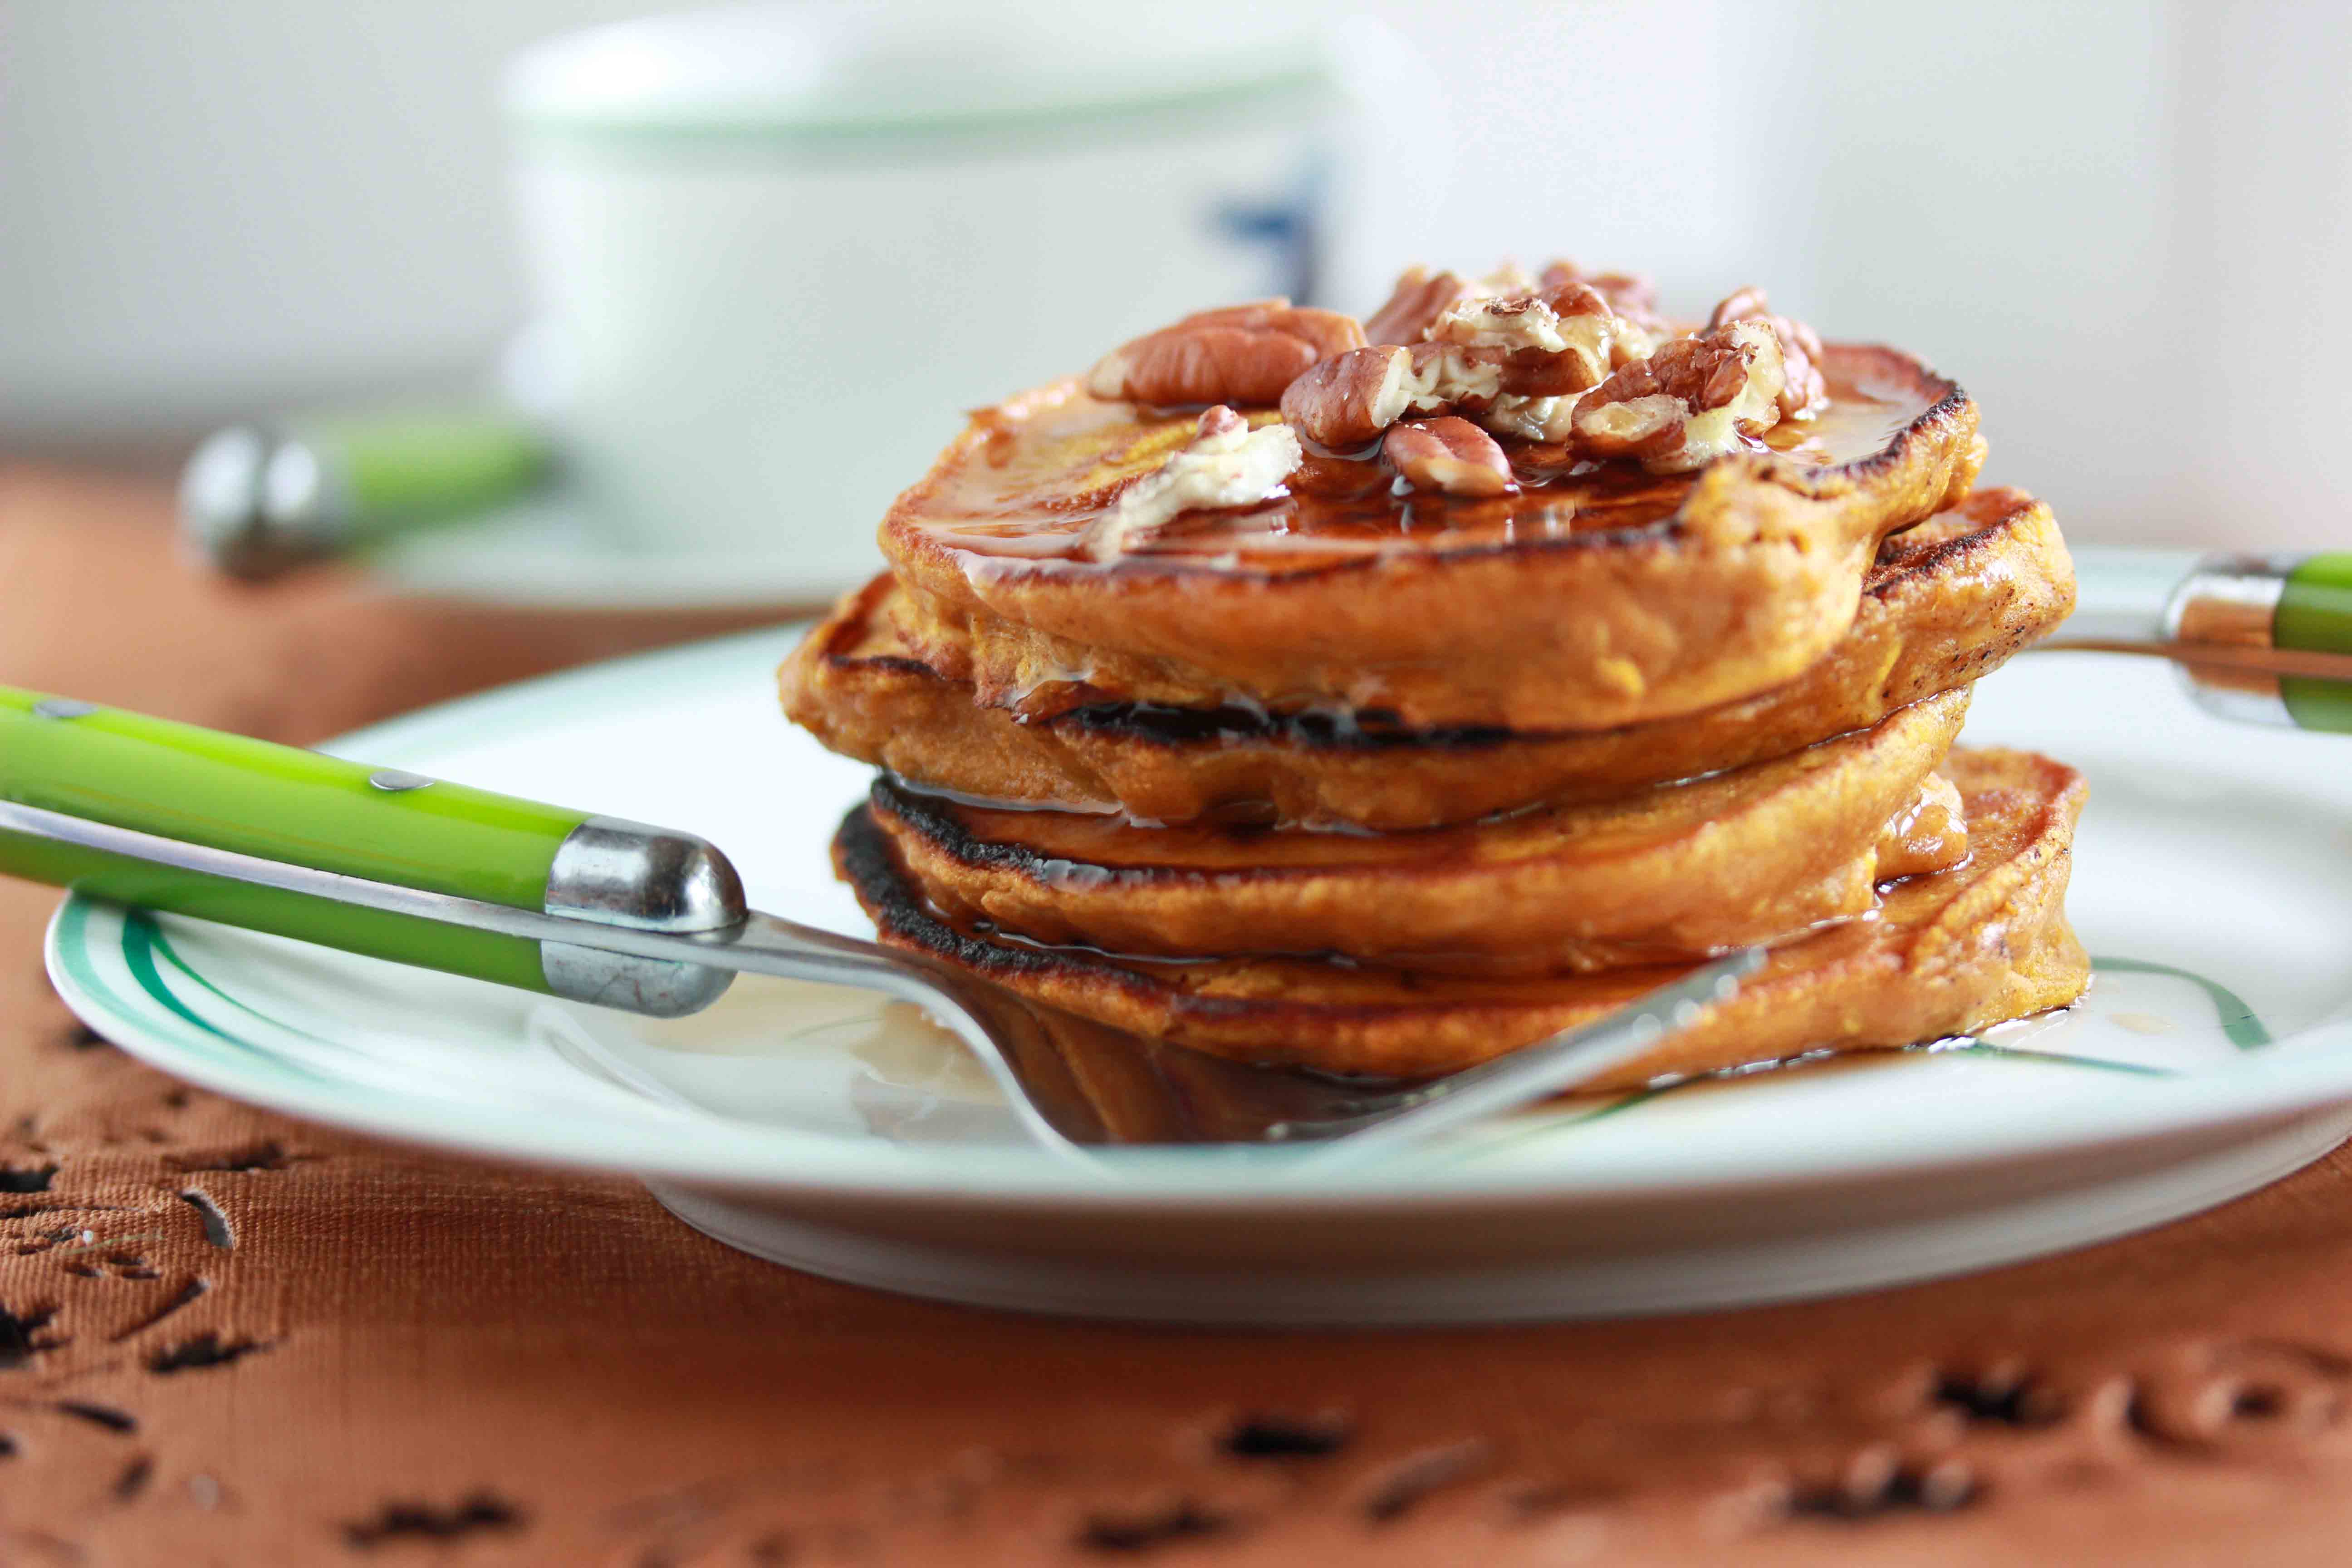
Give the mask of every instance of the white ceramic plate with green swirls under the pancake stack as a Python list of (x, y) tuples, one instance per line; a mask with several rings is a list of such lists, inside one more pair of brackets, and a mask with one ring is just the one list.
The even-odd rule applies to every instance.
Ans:
[[(419, 712), (332, 750), (691, 827), (760, 907), (863, 931), (826, 842), (866, 769), (776, 715), (790, 630)], [(642, 1175), (748, 1251), (898, 1291), (1200, 1321), (1656, 1312), (1947, 1274), (2183, 1215), (2352, 1131), (2352, 741), (2230, 726), (2171, 670), (2037, 654), (1978, 743), (2091, 776), (2070, 1013), (1987, 1041), (1566, 1103), (1322, 1175), (1282, 1150), (1030, 1145), (960, 1051), (746, 980), (649, 1025), (71, 898), (49, 971), (209, 1088)]]

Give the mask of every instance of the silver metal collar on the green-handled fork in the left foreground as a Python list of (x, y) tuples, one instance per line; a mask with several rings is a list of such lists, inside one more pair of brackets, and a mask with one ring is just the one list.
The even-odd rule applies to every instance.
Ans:
[[(743, 879), (710, 839), (590, 816), (555, 849), (546, 912), (630, 931), (699, 933), (743, 924)], [(731, 969), (541, 943), (548, 990), (572, 1001), (682, 1018), (734, 985)]]

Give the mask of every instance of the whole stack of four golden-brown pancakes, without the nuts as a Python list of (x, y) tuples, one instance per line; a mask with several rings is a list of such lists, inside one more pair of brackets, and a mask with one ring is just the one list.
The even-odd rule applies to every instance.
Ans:
[[(1976, 489), (1955, 383), (1769, 317), (1820, 371), (1804, 414), (1630, 458), (1437, 381), (1425, 428), (1465, 449), (1446, 414), (1484, 418), (1508, 463), (1463, 477), (1319, 442), (1296, 395), (1298, 444), (1275, 430), (1364, 341), (1334, 320), (1294, 334), (1315, 369), (1188, 341), (1183, 400), (1103, 367), (1018, 395), (891, 508), (891, 571), (783, 668), (790, 717), (884, 769), (835, 839), (884, 940), (1148, 1039), (1395, 1077), (1748, 943), (1773, 952), (1740, 994), (1613, 1084), (2084, 990), (2079, 778), (1952, 748), (1969, 686), (2074, 597), (2049, 510)], [(1630, 376), (1571, 407), (1708, 343), (1623, 334)], [(1752, 364), (1752, 331), (1715, 336)], [(1291, 463), (1270, 494), (1136, 505), (1178, 454), (1230, 480), (1244, 433)]]

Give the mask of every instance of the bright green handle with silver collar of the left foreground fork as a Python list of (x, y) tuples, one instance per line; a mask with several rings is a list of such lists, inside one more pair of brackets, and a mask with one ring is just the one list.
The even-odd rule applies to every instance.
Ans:
[[(649, 931), (743, 917), (691, 835), (0, 686), (0, 802), (365, 882)], [(644, 851), (644, 853), (635, 853)], [(0, 830), (0, 875), (637, 1011), (691, 1011), (724, 973), (230, 882)]]

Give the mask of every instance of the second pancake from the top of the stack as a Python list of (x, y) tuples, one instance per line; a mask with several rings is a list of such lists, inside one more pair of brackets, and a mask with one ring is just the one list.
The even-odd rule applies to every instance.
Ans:
[(880, 576), (781, 670), (783, 708), (828, 748), (971, 799), (1122, 811), (1138, 823), (1442, 827), (1736, 769), (1997, 670), (2074, 607), (2046, 505), (1985, 489), (1891, 536), (1851, 630), (1797, 679), (1682, 719), (1588, 733), (1395, 729), (1256, 708), (1084, 705), (1023, 717), (908, 649)]

